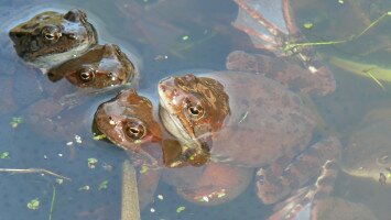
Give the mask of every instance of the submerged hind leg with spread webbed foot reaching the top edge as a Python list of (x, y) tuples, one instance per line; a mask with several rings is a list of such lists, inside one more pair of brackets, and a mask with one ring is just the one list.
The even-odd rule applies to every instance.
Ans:
[[(232, 52), (229, 70), (264, 74), (291, 89), (325, 96), (336, 89), (333, 73), (295, 25), (290, 0), (235, 0), (239, 7), (235, 28), (247, 33), (256, 48), (274, 56)], [(270, 54), (269, 53), (269, 54)]]

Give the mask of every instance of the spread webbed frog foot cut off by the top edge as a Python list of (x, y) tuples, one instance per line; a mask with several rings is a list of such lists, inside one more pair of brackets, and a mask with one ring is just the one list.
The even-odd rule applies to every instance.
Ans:
[(232, 25), (247, 33), (254, 47), (272, 52), (276, 56), (295, 55), (305, 68), (316, 73), (317, 57), (295, 25), (290, 0), (235, 0), (239, 12)]

